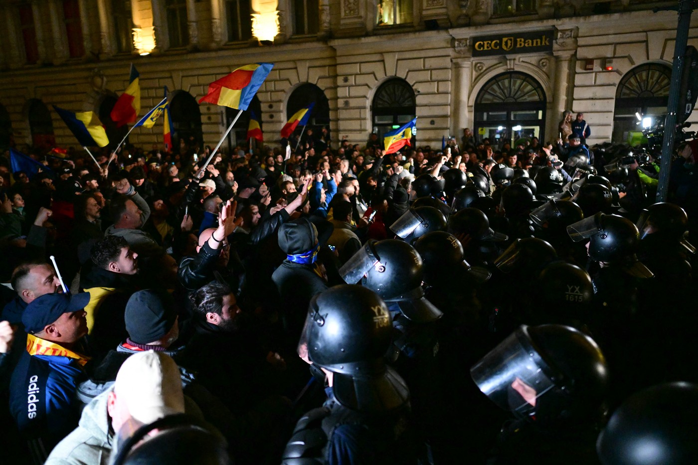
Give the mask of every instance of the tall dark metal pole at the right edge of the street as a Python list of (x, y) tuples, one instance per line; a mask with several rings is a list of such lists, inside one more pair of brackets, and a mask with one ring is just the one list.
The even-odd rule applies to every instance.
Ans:
[(676, 135), (676, 113), (681, 92), (681, 75), (683, 74), (683, 56), (688, 42), (692, 0), (679, 0), (678, 26), (676, 27), (676, 43), (674, 45), (674, 61), (671, 64), (671, 84), (669, 85), (669, 102), (667, 103), (667, 119), (664, 120), (664, 140), (662, 141), (662, 165), (657, 186), (657, 202), (664, 202), (669, 191), (669, 170), (671, 170), (671, 155), (674, 153), (674, 138)]

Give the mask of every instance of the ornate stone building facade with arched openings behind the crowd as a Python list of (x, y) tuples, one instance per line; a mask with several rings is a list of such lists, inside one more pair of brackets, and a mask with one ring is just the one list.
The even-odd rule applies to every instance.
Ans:
[[(179, 135), (211, 145), (235, 110), (193, 102), (209, 82), (261, 61), (274, 69), (251, 108), (266, 142), (311, 99), (321, 101), (313, 124), (334, 140), (361, 143), (416, 116), (419, 145), (460, 138), (463, 128), (500, 142), (554, 140), (564, 110), (584, 112), (590, 144), (622, 141), (638, 127), (635, 112), (658, 117), (666, 107), (677, 16), (651, 11), (662, 3), (279, 0), (274, 43), (251, 35), (260, 3), (1, 0), (0, 146), (74, 145), (51, 105), (98, 112), (108, 127), (131, 63), (141, 114), (166, 86)], [(694, 28), (690, 44), (696, 36)], [(244, 138), (246, 118), (230, 147)], [(129, 140), (161, 146), (161, 125)]]

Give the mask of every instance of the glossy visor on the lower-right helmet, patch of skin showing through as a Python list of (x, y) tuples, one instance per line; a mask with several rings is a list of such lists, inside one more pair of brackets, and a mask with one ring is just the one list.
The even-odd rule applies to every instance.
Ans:
[(477, 388), (506, 411), (533, 411), (537, 399), (555, 388), (556, 377), (521, 325), (470, 368)]

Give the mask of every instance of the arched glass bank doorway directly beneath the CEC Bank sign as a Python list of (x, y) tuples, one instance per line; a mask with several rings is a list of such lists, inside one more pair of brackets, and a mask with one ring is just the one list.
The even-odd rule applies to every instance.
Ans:
[(530, 75), (512, 71), (487, 81), (475, 99), (475, 136), (492, 147), (544, 139), (545, 92)]

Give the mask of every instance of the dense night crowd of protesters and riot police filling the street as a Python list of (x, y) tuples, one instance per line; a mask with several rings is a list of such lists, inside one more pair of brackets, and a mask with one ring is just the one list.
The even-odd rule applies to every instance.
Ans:
[[(126, 145), (97, 163), (75, 149), (33, 154), (43, 165), (36, 172), (13, 171), (5, 152), (3, 457), (621, 463), (597, 456), (608, 415), (644, 388), (698, 381), (687, 303), (698, 176), (686, 174), (698, 142), (679, 147), (672, 203), (653, 205), (641, 186), (656, 182), (610, 182), (608, 156), (584, 145), (584, 131), (556, 144), (496, 147), (466, 130), (460, 144), (391, 154), (376, 134), (333, 144), (327, 131), (307, 131), (284, 141), (295, 148), (288, 159), (281, 145), (235, 147), (205, 168), (211, 148), (193, 141), (172, 154)], [(585, 220), (591, 229), (581, 228)], [(370, 266), (357, 265), (366, 256)], [(346, 287), (357, 283), (373, 292)], [(286, 444), (302, 431), (294, 425), (334, 399), (332, 372), (335, 384), (342, 379), (321, 361), (322, 348), (301, 339), (313, 318), (329, 321), (322, 306), (337, 299), (373, 302), (364, 307), (376, 312), (376, 328), (376, 309), (389, 311), (390, 344), (378, 365), (390, 385), (404, 380), (394, 391), (409, 401), (390, 417), (401, 419), (401, 434), (373, 436), (378, 426), (350, 417), (343, 426), (365, 423), (371, 437), (339, 428), (328, 434), (332, 451), (320, 446), (320, 462), (293, 462)], [(528, 410), (512, 408), (512, 420), (511, 401), (483, 388), (495, 366), (488, 357), (510, 334), (528, 334), (521, 325), (548, 324), (567, 332), (531, 329), (530, 338), (577, 383), (575, 408), (540, 400), (533, 412), (536, 396), (526, 393), (539, 386), (517, 377), (507, 388)], [(540, 342), (570, 334), (586, 352), (562, 362), (563, 343)], [(322, 368), (329, 391), (306, 362)], [(584, 363), (593, 368), (577, 366)], [(352, 401), (337, 399), (351, 410)], [(695, 410), (695, 395), (689, 400)]]

